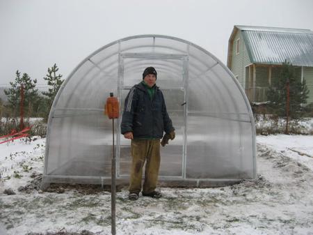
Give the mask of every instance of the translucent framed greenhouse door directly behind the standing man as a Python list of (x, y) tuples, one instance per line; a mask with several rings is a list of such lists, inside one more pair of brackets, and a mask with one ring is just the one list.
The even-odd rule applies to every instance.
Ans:
[[(162, 70), (170, 64), (171, 70)], [(185, 130), (186, 130), (186, 79), (188, 56), (181, 54), (120, 54), (119, 98), (121, 114), (124, 102), (134, 84), (142, 80), (143, 70), (154, 66), (157, 70), (157, 86), (163, 92), (176, 137), (165, 147), (161, 146), (160, 179), (185, 176)], [(136, 65), (136, 67), (134, 66)], [(120, 116), (120, 122), (122, 115)], [(120, 123), (119, 123), (120, 124)], [(120, 128), (120, 127), (119, 127)], [(120, 130), (120, 129), (119, 129)], [(118, 177), (129, 177), (131, 165), (130, 141), (118, 135)]]

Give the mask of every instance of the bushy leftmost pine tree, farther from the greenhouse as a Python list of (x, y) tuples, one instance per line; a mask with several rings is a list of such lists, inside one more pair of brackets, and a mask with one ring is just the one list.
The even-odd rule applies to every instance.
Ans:
[(21, 102), (21, 86), (23, 86), (24, 111), (30, 116), (32, 114), (33, 105), (38, 101), (38, 89), (35, 89), (37, 80), (32, 80), (27, 73), (23, 73), (21, 77), (19, 70), (16, 71), (15, 75), (15, 81), (10, 82), (11, 88), (4, 90), (4, 93), (8, 97), (8, 107), (12, 109), (15, 116), (18, 116)]

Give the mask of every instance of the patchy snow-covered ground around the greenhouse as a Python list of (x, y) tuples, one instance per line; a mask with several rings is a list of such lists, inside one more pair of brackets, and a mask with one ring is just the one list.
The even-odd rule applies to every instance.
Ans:
[[(38, 190), (45, 139), (0, 145), (0, 235), (111, 234), (111, 193)], [(257, 136), (255, 180), (221, 188), (117, 193), (117, 234), (313, 234), (313, 136)], [(7, 195), (3, 190), (13, 190)], [(1, 227), (1, 225), (0, 225)], [(88, 232), (87, 232), (88, 231)]]

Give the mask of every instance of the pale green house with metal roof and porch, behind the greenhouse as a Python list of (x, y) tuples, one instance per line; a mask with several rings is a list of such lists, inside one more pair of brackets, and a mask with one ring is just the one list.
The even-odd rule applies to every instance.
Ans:
[(267, 100), (266, 91), (278, 79), (282, 62), (292, 63), (296, 79), (305, 79), (313, 103), (313, 31), (235, 25), (228, 43), (227, 67), (251, 103)]

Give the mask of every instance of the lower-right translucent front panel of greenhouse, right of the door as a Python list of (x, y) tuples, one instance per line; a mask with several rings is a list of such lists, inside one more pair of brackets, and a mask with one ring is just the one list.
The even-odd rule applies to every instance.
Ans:
[(252, 132), (244, 129), (247, 123), (191, 114), (187, 123), (186, 178), (253, 177), (253, 159), (245, 149), (252, 146)]

